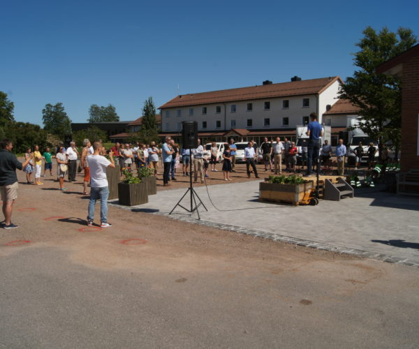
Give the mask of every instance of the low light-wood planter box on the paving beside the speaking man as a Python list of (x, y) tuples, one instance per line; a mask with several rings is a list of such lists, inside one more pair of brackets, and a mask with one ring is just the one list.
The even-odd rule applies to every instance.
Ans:
[(259, 200), (289, 202), (295, 206), (302, 200), (304, 193), (313, 188), (313, 181), (304, 184), (277, 184), (261, 181), (259, 183)]

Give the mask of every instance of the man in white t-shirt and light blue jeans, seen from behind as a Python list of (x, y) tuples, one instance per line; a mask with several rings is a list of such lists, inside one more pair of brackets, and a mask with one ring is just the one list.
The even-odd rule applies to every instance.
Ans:
[(106, 168), (110, 166), (115, 168), (113, 153), (110, 151), (108, 161), (105, 156), (101, 156), (102, 144), (94, 142), (93, 155), (87, 156), (87, 162), (90, 169), (90, 202), (89, 211), (87, 214), (87, 225), (93, 225), (94, 220), (94, 205), (97, 200), (101, 200), (101, 228), (108, 228), (112, 224), (108, 223), (108, 179), (106, 178)]

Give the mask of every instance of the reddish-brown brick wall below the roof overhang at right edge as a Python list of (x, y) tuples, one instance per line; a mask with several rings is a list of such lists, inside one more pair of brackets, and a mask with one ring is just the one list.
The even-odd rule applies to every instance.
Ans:
[(419, 115), (419, 56), (403, 62), (402, 94), (402, 172), (419, 169), (418, 115)]

